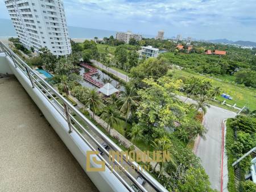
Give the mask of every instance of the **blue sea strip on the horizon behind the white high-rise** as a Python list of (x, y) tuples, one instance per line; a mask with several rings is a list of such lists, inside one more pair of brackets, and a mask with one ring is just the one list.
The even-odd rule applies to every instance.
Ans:
[[(16, 32), (13, 23), (9, 19), (0, 19), (0, 39), (7, 39), (8, 37), (15, 37)], [(83, 28), (83, 27), (73, 27), (68, 26), (69, 37), (76, 39), (94, 39), (98, 37), (103, 39), (103, 37), (115, 36), (116, 31), (99, 30), (94, 28)], [(142, 35), (143, 37), (151, 38), (152, 35)]]

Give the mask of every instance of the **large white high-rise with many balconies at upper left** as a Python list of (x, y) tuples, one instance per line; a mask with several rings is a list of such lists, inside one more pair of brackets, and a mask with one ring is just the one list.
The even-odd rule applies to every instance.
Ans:
[(35, 51), (47, 47), (57, 56), (71, 53), (61, 0), (9, 0), (5, 4), (24, 47)]

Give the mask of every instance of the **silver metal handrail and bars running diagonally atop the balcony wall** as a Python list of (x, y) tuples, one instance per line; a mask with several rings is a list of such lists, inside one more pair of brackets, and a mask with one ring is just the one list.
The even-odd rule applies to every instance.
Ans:
[[(92, 139), (94, 141), (94, 143), (96, 143), (97, 147), (99, 147), (106, 155), (109, 155), (109, 152), (106, 151), (106, 149), (104, 147), (102, 147), (102, 145), (100, 143), (98, 143), (98, 141), (96, 139), (94, 139), (94, 137), (92, 135), (90, 135), (90, 133), (75, 119), (73, 118), (73, 116), (71, 115), (70, 111), (74, 112), (86, 125), (88, 125), (88, 127), (91, 128), (92, 131), (94, 131), (98, 136), (101, 137), (102, 140), (104, 140), (106, 143), (108, 143), (110, 145), (110, 147), (112, 147), (114, 149), (114, 151), (118, 151), (121, 152), (121, 148), (119, 148), (112, 140), (109, 139), (108, 136), (106, 136), (102, 131), (100, 131), (92, 122), (90, 122), (89, 119), (87, 119), (79, 110), (77, 110), (77, 108), (75, 108), (73, 105), (71, 105), (71, 103), (69, 103), (67, 101), (67, 99), (65, 99), (58, 91), (56, 91), (51, 85), (48, 84), (48, 82), (46, 82), (45, 80), (43, 80), (43, 78), (41, 78), (37, 73), (34, 72), (33, 69), (30, 68), (30, 66), (28, 66), (26, 64), (26, 62), (24, 62), (22, 59), (20, 59), (13, 51), (11, 51), (10, 48), (6, 47), (5, 44), (3, 44), (0, 41), (0, 48), (2, 49), (3, 52), (5, 52), (11, 59), (13, 59), (15, 68), (19, 68), (20, 70), (22, 70), (22, 72), (29, 78), (30, 82), (31, 82), (31, 86), (32, 88), (36, 87), (38, 88), (41, 93), (43, 93), (42, 89), (46, 92), (43, 93), (44, 97), (46, 97), (48, 99), (48, 101), (51, 103), (51, 105), (53, 105), (53, 107), (56, 108), (56, 106), (49, 100), (49, 98), (47, 97), (47, 95), (49, 95), (49, 97), (51, 97), (53, 99), (53, 101), (57, 102), (58, 105), (60, 105), (63, 109), (64, 109), (64, 114), (63, 112), (61, 112), (59, 109), (56, 108), (56, 110), (63, 116), (65, 117), (64, 119), (66, 120), (66, 122), (68, 123), (69, 126), (69, 133), (72, 132), (72, 130), (75, 130), (75, 132), (81, 137), (82, 140), (85, 141), (86, 144), (89, 145), (89, 147), (92, 149), (92, 151), (95, 151), (95, 149), (92, 147), (92, 145), (81, 135), (81, 133), (77, 130), (77, 128), (75, 126), (73, 126), (73, 124), (71, 124), (71, 120), (72, 122), (75, 122), (82, 131), (84, 131), (86, 133), (86, 135), (88, 135), (90, 137), (90, 139)], [(39, 87), (40, 86), (40, 87)], [(46, 86), (47, 89), (49, 89), (49, 91), (44, 87)], [(57, 98), (59, 98), (62, 102), (63, 102), (63, 106), (52, 96), (52, 94), (55, 94)], [(46, 95), (47, 94), (47, 95)], [(106, 166), (108, 166), (110, 168), (110, 165), (108, 163), (108, 161), (106, 161), (101, 155), (98, 155), (98, 157), (102, 160), (105, 161)], [(126, 156), (123, 155), (123, 160), (126, 161)], [(115, 164), (120, 166), (119, 162), (117, 162), (116, 160), (114, 161)], [(149, 185), (151, 185), (156, 191), (167, 191), (158, 181), (156, 181), (153, 177), (151, 177), (149, 174), (145, 174), (144, 172), (142, 172), (140, 170), (140, 166), (137, 164), (137, 162), (134, 161), (126, 161), (126, 163), (128, 165), (133, 165), (135, 170), (137, 171), (137, 173), (139, 174), (139, 176), (143, 177), (144, 180), (146, 180), (148, 182)], [(138, 188), (142, 191), (147, 191), (137, 180), (136, 178), (134, 178), (133, 176), (131, 176), (131, 174), (129, 172), (127, 172), (127, 170), (123, 169), (123, 172), (126, 174), (126, 176), (136, 185), (138, 186)], [(123, 178), (117, 173), (115, 172), (115, 170), (113, 170), (114, 175), (118, 178), (119, 181), (121, 181), (123, 183), (123, 185), (126, 187), (126, 189), (128, 189), (129, 191), (133, 191), (133, 189), (131, 189), (131, 187), (128, 185), (128, 183), (126, 181), (123, 180)]]

